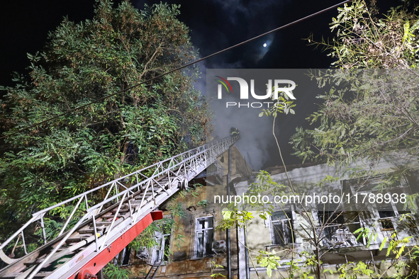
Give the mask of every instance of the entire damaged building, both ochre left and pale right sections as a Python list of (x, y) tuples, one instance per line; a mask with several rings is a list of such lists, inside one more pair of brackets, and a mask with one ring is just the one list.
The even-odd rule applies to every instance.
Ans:
[[(381, 161), (362, 178), (352, 178), (347, 173), (338, 175), (335, 167), (325, 164), (287, 166), (289, 178), (283, 166), (267, 169), (275, 183), (288, 186), (291, 181), (293, 193), (300, 197), (338, 195), (340, 203), (304, 203), (304, 198), (301, 203), (272, 203), (272, 216), (267, 215), (266, 220), (253, 214), (255, 219), (246, 227), (231, 229), (228, 249), (226, 232), (216, 229), (226, 205), (213, 203), (214, 196), (226, 195), (228, 190), (230, 195), (243, 195), (256, 177), (239, 150), (232, 147), (230, 156), (225, 152), (216, 164), (189, 183), (189, 191), (179, 193), (160, 207), (164, 220), (174, 220), (177, 226), (168, 234), (155, 234), (157, 246), (126, 248), (114, 264), (128, 268), (132, 272), (130, 278), (212, 278), (216, 273), (227, 276), (228, 266), (231, 278), (257, 278), (257, 273), (260, 278), (268, 278), (266, 267), (259, 266), (256, 255), (249, 255), (243, 246), (247, 243), (252, 251), (274, 251), (280, 256), (277, 272), (284, 278), (291, 258), (299, 260), (298, 265), (302, 266), (305, 258), (301, 253), (315, 254), (316, 249), (323, 268), (331, 271), (337, 271), (342, 263), (363, 261), (371, 270), (390, 275), (393, 269), (389, 265), (396, 256), (387, 256), (390, 241), (408, 237), (406, 247), (412, 247), (419, 236), (417, 216), (394, 198), (418, 192), (413, 189), (419, 181), (417, 168), (411, 167), (410, 176), (387, 189), (390, 199), (379, 187), (381, 178), (394, 171), (394, 164)], [(325, 180), (326, 176), (337, 177)], [(281, 195), (291, 194), (285, 187)], [(362, 199), (369, 198), (369, 194), (381, 197), (381, 203), (365, 203)], [(267, 195), (270, 201), (274, 200), (272, 193)], [(177, 215), (174, 210), (184, 213)], [(338, 276), (335, 273), (327, 278)]]

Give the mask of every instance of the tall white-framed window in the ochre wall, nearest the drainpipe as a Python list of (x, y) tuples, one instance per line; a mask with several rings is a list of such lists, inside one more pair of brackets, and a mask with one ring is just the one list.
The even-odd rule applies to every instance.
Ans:
[(197, 258), (212, 254), (213, 224), (212, 216), (196, 219), (195, 256)]

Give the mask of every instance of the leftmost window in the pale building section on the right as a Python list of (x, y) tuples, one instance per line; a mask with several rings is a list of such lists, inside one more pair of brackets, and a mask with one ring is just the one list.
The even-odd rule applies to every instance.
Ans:
[(273, 245), (292, 243), (292, 212), (276, 211), (271, 217), (271, 237)]

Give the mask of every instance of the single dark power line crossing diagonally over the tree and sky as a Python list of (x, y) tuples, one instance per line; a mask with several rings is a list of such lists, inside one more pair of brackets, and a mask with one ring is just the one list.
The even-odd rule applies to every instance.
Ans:
[(71, 109), (71, 110), (67, 110), (65, 113), (61, 113), (61, 114), (59, 114), (59, 115), (55, 115), (55, 116), (53, 116), (52, 118), (48, 118), (48, 119), (43, 120), (43, 121), (41, 121), (41, 122), (35, 123), (35, 124), (30, 125), (30, 126), (25, 127), (25, 128), (22, 128), (21, 130), (18, 130), (18, 131), (16, 131), (16, 132), (12, 132), (12, 133), (11, 133), (11, 134), (9, 134), (9, 135), (4, 135), (3, 137), (0, 137), (0, 139), (4, 139), (4, 138), (6, 138), (6, 137), (10, 137), (11, 135), (15, 135), (15, 134), (17, 134), (18, 132), (22, 132), (22, 131), (24, 131), (24, 130), (28, 130), (28, 129), (29, 129), (29, 128), (31, 128), (31, 127), (35, 127), (35, 126), (41, 125), (41, 124), (43, 124), (43, 123), (47, 123), (47, 122), (49, 122), (49, 121), (51, 121), (51, 120), (54, 120), (55, 118), (60, 118), (61, 116), (67, 115), (68, 113), (72, 113), (72, 112), (74, 112), (74, 111), (76, 111), (76, 110), (80, 110), (80, 109), (82, 109), (82, 108), (86, 108), (87, 106), (90, 106), (90, 105), (92, 105), (92, 104), (94, 104), (94, 103), (98, 103), (98, 102), (100, 102), (100, 101), (104, 101), (104, 100), (106, 100), (107, 98), (111, 98), (111, 97), (113, 97), (113, 96), (118, 95), (119, 93), (123, 93), (123, 92), (125, 92), (125, 91), (131, 90), (131, 89), (134, 89), (135, 87), (140, 86), (141, 84), (147, 84), (148, 82), (150, 82), (150, 81), (152, 81), (152, 80), (154, 80), (154, 79), (159, 79), (160, 77), (165, 76), (165, 75), (167, 75), (167, 74), (171, 74), (172, 72), (176, 72), (176, 71), (178, 71), (179, 69), (184, 69), (184, 68), (189, 67), (189, 66), (191, 66), (191, 65), (193, 65), (193, 64), (196, 64), (196, 63), (198, 63), (198, 62), (201, 62), (201, 61), (203, 61), (203, 60), (205, 60), (205, 59), (208, 59), (208, 58), (210, 58), (210, 57), (213, 57), (213, 56), (219, 55), (220, 53), (226, 52), (226, 51), (228, 51), (228, 50), (233, 50), (233, 48), (235, 48), (235, 47), (240, 47), (240, 45), (245, 45), (245, 44), (247, 44), (247, 42), (252, 42), (253, 40), (257, 40), (257, 39), (259, 39), (259, 38), (262, 38), (263, 36), (268, 35), (268, 34), (270, 34), (270, 33), (274, 33), (274, 32), (276, 32), (276, 31), (282, 30), (282, 29), (287, 28), (287, 27), (289, 27), (289, 26), (291, 26), (291, 25), (294, 25), (294, 24), (296, 24), (296, 23), (300, 23), (301, 21), (305, 21), (305, 20), (306, 20), (306, 19), (308, 19), (308, 18), (312, 18), (313, 16), (317, 16), (317, 15), (319, 15), (320, 13), (324, 13), (325, 11), (330, 11), (330, 10), (332, 10), (333, 8), (337, 8), (338, 6), (341, 6), (342, 4), (348, 3), (348, 2), (350, 2), (350, 1), (352, 1), (352, 0), (346, 0), (346, 1), (343, 1), (343, 2), (341, 2), (341, 3), (339, 3), (339, 4), (336, 4), (336, 5), (330, 6), (330, 7), (328, 7), (328, 8), (325, 8), (325, 9), (323, 9), (323, 10), (320, 10), (320, 11), (318, 11), (318, 12), (312, 13), (312, 14), (311, 14), (311, 15), (309, 15), (309, 16), (305, 16), (305, 17), (300, 18), (300, 19), (298, 19), (298, 20), (296, 20), (296, 21), (293, 21), (293, 22), (291, 22), (291, 23), (287, 23), (286, 25), (282, 25), (282, 26), (280, 26), (280, 27), (278, 27), (278, 28), (275, 28), (275, 29), (273, 29), (273, 30), (270, 30), (270, 31), (268, 31), (268, 32), (266, 32), (266, 33), (262, 33), (261, 35), (257, 35), (256, 37), (250, 38), (249, 40), (245, 40), (245, 41), (243, 41), (243, 42), (239, 42), (237, 45), (232, 45), (231, 47), (227, 47), (227, 48), (225, 48), (225, 49), (223, 49), (223, 50), (220, 50), (220, 51), (218, 51), (218, 52), (214, 52), (214, 53), (213, 53), (213, 54), (211, 54), (211, 55), (208, 55), (208, 56), (203, 57), (203, 58), (201, 58), (201, 59), (195, 60), (194, 62), (189, 62), (189, 63), (187, 63), (187, 64), (184, 64), (184, 65), (183, 65), (183, 66), (181, 66), (181, 67), (177, 67), (176, 69), (172, 69), (172, 70), (170, 70), (169, 72), (165, 72), (164, 74), (160, 74), (159, 76), (155, 76), (155, 77), (153, 77), (153, 78), (151, 78), (151, 79), (147, 79), (147, 80), (145, 80), (145, 81), (143, 81), (143, 82), (140, 82), (139, 84), (135, 84), (135, 85), (133, 85), (133, 86), (127, 87), (126, 89), (122, 89), (122, 90), (120, 90), (120, 91), (118, 91), (118, 92), (116, 92), (116, 93), (112, 93), (112, 94), (110, 94), (110, 95), (108, 95), (108, 96), (104, 96), (104, 97), (102, 97), (102, 98), (96, 99), (95, 101), (91, 101), (90, 103), (86, 103), (86, 104), (85, 104), (85, 105), (83, 105), (83, 106), (79, 106), (79, 107), (77, 107), (77, 108), (73, 108), (73, 109)]

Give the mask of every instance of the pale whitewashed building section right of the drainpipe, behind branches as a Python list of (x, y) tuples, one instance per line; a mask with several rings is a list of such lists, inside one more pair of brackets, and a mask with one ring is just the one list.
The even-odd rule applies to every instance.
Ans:
[[(291, 182), (294, 186), (294, 191), (284, 188), (282, 195), (299, 195), (301, 203), (273, 203), (272, 216), (263, 220), (255, 215), (247, 224), (246, 232), (243, 228), (240, 233), (247, 237), (249, 249), (274, 251), (280, 256), (278, 272), (284, 278), (289, 268), (286, 263), (293, 258), (298, 266), (303, 266), (306, 258), (301, 255), (305, 252), (321, 256), (323, 268), (333, 272), (328, 273), (327, 278), (338, 278), (336, 271), (342, 264), (359, 261), (367, 263), (376, 273), (392, 275), (395, 270), (389, 267), (396, 254), (387, 253), (391, 241), (405, 239), (408, 249), (418, 244), (419, 237), (418, 217), (406, 204), (406, 197), (418, 193), (418, 167), (410, 166), (410, 175), (403, 176), (399, 183), (385, 191), (380, 187), (386, 174), (395, 171), (395, 164), (383, 160), (370, 166), (361, 178), (341, 174), (326, 164), (293, 166), (288, 176), (283, 167), (272, 168), (269, 170), (272, 181), (285, 186)], [(248, 187), (244, 181), (235, 185), (238, 195)], [(315, 195), (318, 200), (306, 203)], [(274, 197), (271, 195), (270, 199)], [(414, 201), (412, 206), (416, 206)], [(403, 245), (398, 244), (398, 247)], [(255, 269), (260, 278), (267, 278), (266, 268), (259, 267), (256, 261), (246, 265), (251, 259), (246, 257), (245, 249), (241, 249), (239, 259), (245, 259), (240, 261), (239, 268), (242, 273), (247, 269), (248, 278), (257, 278)], [(405, 260), (408, 261), (401, 259)], [(408, 274), (409, 268), (412, 267), (407, 264), (403, 272)]]

